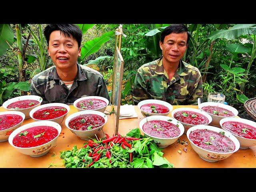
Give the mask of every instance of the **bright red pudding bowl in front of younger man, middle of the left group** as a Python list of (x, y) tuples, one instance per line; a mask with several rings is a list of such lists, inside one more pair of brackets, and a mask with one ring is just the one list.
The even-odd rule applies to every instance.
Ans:
[(61, 124), (70, 107), (63, 103), (48, 103), (30, 111), (30, 117), (36, 121), (53, 121)]

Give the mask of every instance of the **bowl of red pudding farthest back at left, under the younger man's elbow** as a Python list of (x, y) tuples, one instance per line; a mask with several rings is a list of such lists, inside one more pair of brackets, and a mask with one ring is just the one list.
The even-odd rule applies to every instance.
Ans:
[(28, 119), (30, 118), (30, 111), (40, 106), (42, 101), (42, 97), (36, 95), (19, 96), (4, 102), (3, 108), (10, 111), (22, 112), (25, 114), (25, 119)]

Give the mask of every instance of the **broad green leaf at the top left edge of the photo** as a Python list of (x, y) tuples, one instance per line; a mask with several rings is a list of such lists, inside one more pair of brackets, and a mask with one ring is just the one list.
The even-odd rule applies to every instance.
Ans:
[[(9, 24), (0, 24), (0, 56), (13, 44), (14, 34)], [(10, 46), (6, 43), (10, 44)]]

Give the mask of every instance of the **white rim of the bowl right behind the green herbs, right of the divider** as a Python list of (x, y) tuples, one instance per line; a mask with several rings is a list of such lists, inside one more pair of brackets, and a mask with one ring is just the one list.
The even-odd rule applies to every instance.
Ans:
[[(160, 118), (166, 118), (166, 120), (163, 120), (163, 119), (154, 119), (154, 118), (158, 118), (158, 117), (160, 117)], [(150, 120), (148, 120), (147, 118), (150, 118)], [(154, 119), (154, 120), (162, 120), (162, 121), (166, 121), (166, 122), (169, 122), (169, 123), (172, 123), (172, 121), (176, 121), (176, 123), (179, 124), (178, 128), (179, 128), (179, 130), (180, 130), (180, 134), (179, 134), (178, 136), (176, 136), (176, 137), (160, 138), (160, 137), (155, 137), (155, 136), (152, 136), (152, 135), (150, 135), (150, 134), (144, 132), (144, 130), (143, 130), (142, 127), (143, 127), (143, 125), (144, 125), (146, 122), (151, 121), (151, 118), (152, 118), (152, 120), (153, 120), (153, 119)], [(167, 118), (168, 118), (168, 119), (171, 119), (172, 121), (168, 121)], [(174, 119), (174, 118), (171, 118), (171, 117), (168, 117), (168, 116), (162, 116), (162, 115), (154, 115), (154, 116), (145, 117), (145, 118), (143, 118), (142, 120), (144, 120), (144, 119), (147, 119), (147, 121), (146, 121), (145, 123), (141, 124), (142, 127), (140, 128), (140, 130), (142, 130), (142, 132), (143, 132), (144, 134), (149, 135), (149, 136), (152, 137), (152, 138), (163, 139), (163, 140), (170, 140), (170, 139), (179, 138), (180, 136), (182, 136), (182, 134), (184, 134), (184, 131), (185, 131), (184, 126), (181, 124), (180, 121), (178, 121), (178, 120), (176, 120), (176, 119)], [(140, 122), (142, 122), (142, 120), (141, 120)], [(174, 123), (172, 123), (172, 124), (174, 124)], [(174, 124), (174, 125), (175, 125), (175, 124)], [(180, 126), (182, 127), (182, 130), (180, 129)]]

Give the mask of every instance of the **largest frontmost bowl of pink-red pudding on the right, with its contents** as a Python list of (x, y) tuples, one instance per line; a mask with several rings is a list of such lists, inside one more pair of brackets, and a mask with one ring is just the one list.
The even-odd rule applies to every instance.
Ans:
[(208, 162), (224, 160), (240, 147), (230, 132), (214, 126), (193, 126), (188, 129), (187, 137), (193, 150)]

